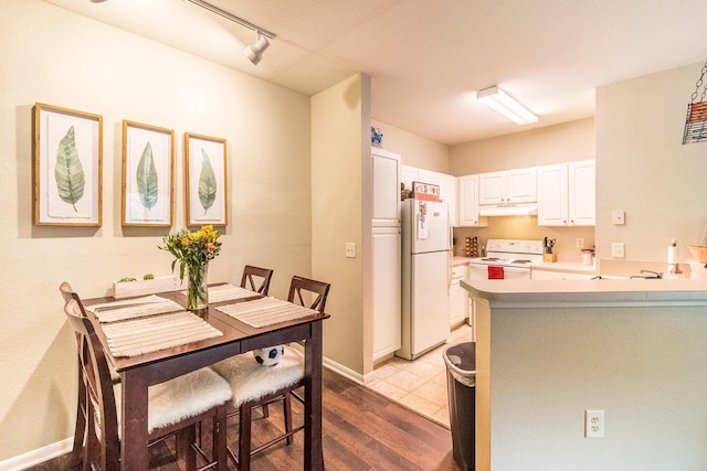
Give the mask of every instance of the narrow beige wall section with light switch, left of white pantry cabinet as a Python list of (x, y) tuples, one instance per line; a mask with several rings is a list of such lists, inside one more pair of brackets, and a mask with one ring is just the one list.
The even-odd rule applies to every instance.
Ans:
[[(371, 172), (369, 103), (370, 78), (362, 74), (312, 97), (313, 276), (331, 283), (327, 312), (333, 315), (324, 323), (324, 354), (349, 370), (341, 373), (356, 378), (363, 373), (361, 274), (363, 175), (370, 179)], [(347, 242), (356, 244), (356, 258), (344, 257)]]

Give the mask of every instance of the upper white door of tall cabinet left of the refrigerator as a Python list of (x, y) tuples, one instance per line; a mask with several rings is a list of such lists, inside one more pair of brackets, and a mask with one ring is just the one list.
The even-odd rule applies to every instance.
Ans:
[(372, 148), (373, 226), (400, 225), (400, 156)]

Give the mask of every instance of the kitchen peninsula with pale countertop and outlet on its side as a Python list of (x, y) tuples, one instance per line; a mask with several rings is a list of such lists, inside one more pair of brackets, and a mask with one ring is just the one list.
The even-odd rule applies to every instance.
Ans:
[(706, 280), (461, 286), (481, 299), (477, 470), (707, 467)]

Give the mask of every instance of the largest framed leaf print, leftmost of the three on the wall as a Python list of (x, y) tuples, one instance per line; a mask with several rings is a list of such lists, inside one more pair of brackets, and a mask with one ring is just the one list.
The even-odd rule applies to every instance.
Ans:
[(101, 226), (103, 117), (34, 105), (34, 224)]

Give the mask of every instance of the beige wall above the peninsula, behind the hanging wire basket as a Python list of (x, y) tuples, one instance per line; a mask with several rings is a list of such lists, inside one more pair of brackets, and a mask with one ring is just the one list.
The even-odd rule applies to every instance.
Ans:
[[(687, 104), (704, 63), (597, 90), (597, 249), (625, 244), (626, 259), (680, 261), (707, 228), (707, 141), (682, 144)], [(701, 89), (700, 89), (701, 93)], [(625, 225), (611, 223), (625, 211)]]

